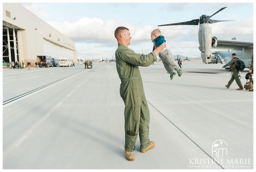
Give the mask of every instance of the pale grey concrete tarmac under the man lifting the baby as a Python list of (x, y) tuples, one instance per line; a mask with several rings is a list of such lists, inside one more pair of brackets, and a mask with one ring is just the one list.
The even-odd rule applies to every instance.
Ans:
[[(253, 92), (223, 64), (140, 67), (156, 146), (124, 156), (115, 63), (3, 69), (3, 169), (253, 169)], [(241, 72), (244, 85), (245, 74)]]

